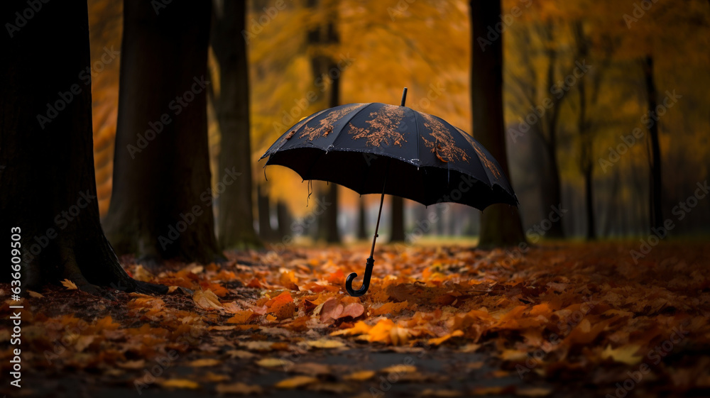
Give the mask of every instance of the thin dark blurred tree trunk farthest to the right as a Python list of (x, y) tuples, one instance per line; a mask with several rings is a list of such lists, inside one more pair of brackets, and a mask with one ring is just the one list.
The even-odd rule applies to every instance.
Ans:
[[(646, 95), (649, 115), (655, 114), (657, 105), (656, 84), (653, 81), (653, 56), (646, 55), (643, 65), (643, 74), (646, 84)], [(649, 180), (649, 219), (650, 226), (654, 228), (662, 228), (663, 226), (663, 207), (661, 201), (661, 148), (658, 139), (658, 122), (650, 119), (648, 126), (648, 137), (650, 138), (650, 180)]]

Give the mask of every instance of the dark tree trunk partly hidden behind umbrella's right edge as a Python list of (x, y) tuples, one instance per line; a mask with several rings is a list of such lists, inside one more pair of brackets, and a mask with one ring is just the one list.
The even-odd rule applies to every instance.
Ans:
[[(498, 160), (508, 176), (506, 140), (503, 136), (503, 38), (481, 48), (487, 28), (500, 22), (501, 1), (470, 1), (471, 6), (471, 106), (474, 136)], [(484, 52), (485, 50), (485, 52)], [(518, 208), (493, 204), (481, 216), (479, 247), (518, 245), (525, 242)]]

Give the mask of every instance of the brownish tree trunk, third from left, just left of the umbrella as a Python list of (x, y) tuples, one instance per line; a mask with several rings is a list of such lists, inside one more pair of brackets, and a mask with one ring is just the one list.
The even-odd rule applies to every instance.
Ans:
[[(249, 137), (249, 65), (246, 40), (242, 38), (246, 2), (224, 1), (215, 10), (212, 49), (219, 62), (219, 96), (214, 99), (219, 121), (219, 194), (217, 230), (222, 248), (260, 247), (254, 231), (253, 185), (251, 182), (251, 142)], [(221, 11), (221, 12), (220, 12)], [(232, 179), (231, 170), (239, 173)]]

